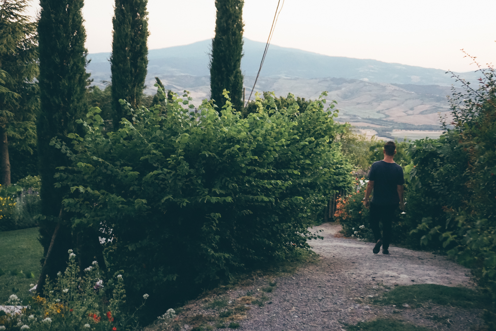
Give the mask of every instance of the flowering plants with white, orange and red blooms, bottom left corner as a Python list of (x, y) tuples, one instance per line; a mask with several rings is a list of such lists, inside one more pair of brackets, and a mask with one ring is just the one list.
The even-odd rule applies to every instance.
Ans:
[[(22, 315), (7, 314), (0, 324), (10, 324), (8, 330), (12, 331), (135, 330), (137, 323), (134, 314), (128, 315), (123, 311), (123, 276), (116, 274), (104, 284), (96, 261), (82, 273), (72, 249), (68, 253), (67, 268), (57, 274), (56, 282), (47, 280), (44, 297), (25, 300), (24, 305), (27, 303), (28, 307)], [(146, 301), (148, 295), (143, 295), (143, 298)], [(19, 306), (21, 303), (21, 299), (11, 295), (6, 304)], [(12, 319), (21, 323), (9, 323)]]

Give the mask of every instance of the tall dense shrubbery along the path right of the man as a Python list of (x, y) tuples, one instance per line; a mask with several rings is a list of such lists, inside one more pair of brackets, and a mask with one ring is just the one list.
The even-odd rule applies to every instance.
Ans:
[(496, 80), (492, 67), (481, 74), (477, 88), (461, 80), (467, 92), (453, 91), (454, 128), (444, 123), (438, 140), (412, 146), (407, 199), (409, 217), (420, 223), (412, 235), (481, 277), (492, 297), (485, 319), (496, 330)]

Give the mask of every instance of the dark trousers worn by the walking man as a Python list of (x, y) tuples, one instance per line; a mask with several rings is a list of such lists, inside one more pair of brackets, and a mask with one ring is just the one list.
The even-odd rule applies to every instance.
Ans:
[[(392, 223), (396, 218), (397, 204), (376, 205), (371, 203), (370, 222), (375, 242), (382, 238), (382, 249), (388, 249), (391, 243)], [(382, 236), (380, 235), (379, 222), (382, 221)]]

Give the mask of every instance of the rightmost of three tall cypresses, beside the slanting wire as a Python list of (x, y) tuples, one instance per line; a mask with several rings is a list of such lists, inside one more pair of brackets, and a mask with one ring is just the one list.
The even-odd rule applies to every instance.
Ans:
[(243, 108), (243, 0), (216, 0), (217, 18), (210, 58), (211, 98), (220, 108), (227, 89), (236, 110)]

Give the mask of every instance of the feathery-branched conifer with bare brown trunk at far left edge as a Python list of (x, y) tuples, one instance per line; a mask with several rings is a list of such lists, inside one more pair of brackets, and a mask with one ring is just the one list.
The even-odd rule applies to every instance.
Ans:
[[(0, 2), (0, 182), (10, 185), (10, 154), (36, 145), (38, 53), (36, 23), (23, 15), (27, 0)], [(26, 163), (26, 160), (23, 160)]]

